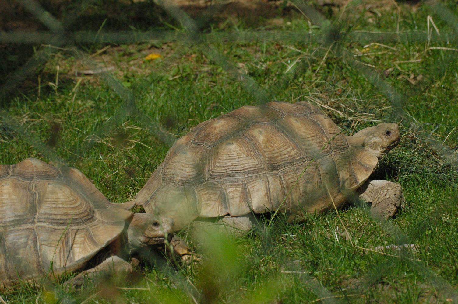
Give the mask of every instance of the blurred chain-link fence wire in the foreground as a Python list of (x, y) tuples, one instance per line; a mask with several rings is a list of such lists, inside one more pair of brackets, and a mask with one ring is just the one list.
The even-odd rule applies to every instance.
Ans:
[[(155, 4), (162, 7), (170, 16), (174, 17), (179, 21), (185, 29), (185, 32), (176, 32), (170, 30), (164, 31), (136, 31), (135, 37), (133, 37), (131, 31), (119, 31), (119, 32), (93, 32), (93, 31), (79, 31), (79, 32), (68, 32), (68, 28), (71, 23), (77, 18), (78, 14), (75, 13), (68, 20), (64, 22), (58, 21), (54, 16), (49, 14), (44, 8), (39, 5), (35, 0), (16, 0), (18, 3), (23, 5), (30, 13), (33, 14), (39, 21), (41, 21), (48, 29), (49, 32), (26, 32), (26, 31), (11, 31), (4, 32), (0, 31), (0, 43), (34, 43), (34, 44), (47, 44), (54, 47), (65, 47), (70, 49), (70, 53), (78, 59), (81, 59), (89, 67), (95, 67), (96, 64), (87, 55), (84, 51), (77, 48), (75, 45), (78, 43), (139, 43), (151, 40), (160, 40), (160, 41), (180, 41), (184, 45), (197, 45), (202, 50), (202, 52), (211, 60), (214, 64), (219, 65), (229, 76), (234, 80), (237, 80), (240, 83), (240, 86), (243, 87), (253, 98), (259, 103), (263, 104), (268, 101), (275, 99), (275, 96), (278, 96), (278, 93), (284, 90), (297, 75), (304, 72), (306, 69), (305, 64), (297, 64), (293, 69), (289, 70), (288, 73), (285, 73), (280, 77), (274, 86), (264, 89), (262, 85), (259, 85), (256, 80), (252, 79), (250, 76), (241, 73), (237, 67), (230, 62), (230, 60), (218, 52), (217, 48), (213, 46), (213, 43), (221, 43), (224, 41), (230, 42), (294, 42), (294, 43), (317, 43), (321, 45), (321, 48), (317, 48), (316, 52), (322, 54), (323, 49), (333, 47), (333, 52), (340, 55), (342, 60), (344, 60), (349, 67), (359, 71), (362, 75), (365, 76), (367, 81), (371, 82), (376, 88), (378, 88), (384, 95), (387, 96), (388, 101), (390, 101), (393, 112), (390, 119), (393, 122), (403, 121), (403, 125), (418, 131), (421, 129), (421, 126), (418, 126), (410, 117), (403, 112), (403, 106), (405, 104), (404, 96), (396, 91), (392, 86), (387, 84), (383, 80), (381, 75), (377, 74), (373, 69), (368, 68), (366, 65), (361, 64), (359, 61), (354, 59), (354, 56), (349, 53), (349, 50), (346, 48), (345, 43), (354, 42), (354, 43), (394, 43), (398, 41), (409, 41), (409, 42), (443, 42), (443, 43), (456, 43), (457, 41), (457, 32), (458, 32), (458, 18), (447, 9), (445, 5), (436, 4), (433, 6), (433, 9), (442, 17), (444, 21), (450, 27), (450, 30), (442, 30), (440, 35), (431, 35), (425, 31), (408, 31), (408, 32), (365, 32), (365, 31), (349, 31), (342, 32), (338, 27), (338, 22), (327, 21), (321, 13), (316, 11), (310, 5), (307, 5), (304, 1), (295, 0), (292, 1), (297, 9), (302, 12), (305, 17), (307, 17), (312, 24), (318, 25), (322, 30), (318, 33), (305, 33), (298, 31), (264, 31), (264, 30), (247, 30), (242, 32), (213, 32), (213, 33), (203, 33), (199, 31), (199, 28), (190, 16), (188, 16), (183, 10), (179, 7), (162, 0), (155, 1)], [(86, 6), (82, 5), (81, 10)], [(209, 10), (209, 13), (212, 11)], [(207, 13), (208, 13), (207, 12)], [(4, 84), (0, 86), (0, 100), (6, 100), (8, 96), (14, 91), (17, 85), (20, 85), (21, 82), (31, 74), (34, 73), (35, 69), (46, 62), (49, 59), (49, 56), (54, 53), (56, 48), (42, 48), (36, 52), (31, 59), (29, 59), (22, 67), (17, 69), (12, 73)], [(109, 133), (114, 128), (117, 128), (126, 117), (135, 116), (136, 119), (147, 128), (152, 136), (158, 137), (165, 144), (171, 146), (174, 143), (174, 136), (171, 136), (169, 133), (164, 132), (159, 125), (146, 114), (142, 112), (136, 106), (134, 94), (132, 91), (127, 89), (124, 85), (120, 83), (119, 80), (111, 75), (109, 72), (103, 72), (98, 74), (100, 79), (105, 82), (111, 90), (113, 90), (124, 102), (123, 107), (117, 112), (117, 114), (110, 119), (109, 123), (105, 123), (98, 130), (95, 131), (95, 135), (103, 135)], [(67, 160), (63, 160), (58, 156), (52, 145), (49, 143), (40, 142), (36, 137), (27, 132), (27, 128), (24, 128), (22, 125), (17, 123), (14, 117), (8, 114), (5, 110), (0, 110), (0, 119), (3, 125), (6, 128), (10, 128), (16, 132), (18, 136), (21, 136), (31, 145), (34, 149), (37, 149), (45, 157), (49, 158), (56, 164), (65, 166)], [(418, 132), (417, 132), (418, 133)], [(431, 144), (453, 167), (456, 168), (458, 165), (456, 153), (454, 150), (444, 146), (442, 143), (438, 142), (432, 138), (431, 133), (421, 132), (418, 133), (418, 136), (421, 136), (421, 139), (425, 142)], [(95, 141), (87, 141), (85, 145), (78, 151), (75, 152), (76, 155), (84, 155), (84, 153), (92, 149)], [(321, 150), (324, 147), (316, 147), (317, 150)], [(322, 167), (332, 166), (333, 164), (321, 164)], [(326, 170), (326, 168), (324, 168)], [(273, 210), (275, 211), (275, 210)], [(399, 231), (393, 224), (390, 223), (380, 223), (383, 229), (390, 232), (393, 235), (396, 235), (399, 240), (399, 244), (409, 240), (409, 235), (404, 232)], [(219, 240), (219, 239), (218, 239)], [(218, 243), (218, 240), (215, 240), (215, 244)], [(220, 244), (221, 245), (221, 244)], [(223, 245), (222, 245), (223, 246)], [(227, 252), (234, 255), (234, 248), (226, 248)], [(211, 250), (210, 250), (211, 251)], [(220, 257), (230, 259), (228, 253), (219, 253)], [(217, 253), (218, 255), (218, 253)], [(397, 257), (393, 259), (403, 259), (407, 261), (409, 266), (415, 269), (420, 273), (426, 281), (431, 283), (437, 290), (441, 290), (442, 293), (449, 299), (453, 301), (458, 301), (458, 294), (447, 283), (442, 277), (439, 277), (435, 272), (428, 269), (424, 263), (421, 261), (416, 261), (409, 255), (407, 252), (402, 252)], [(215, 268), (216, 266), (211, 266)], [(218, 267), (216, 267), (218, 268)], [(206, 299), (210, 301), (213, 299), (213, 296), (206, 298), (205, 294), (202, 295), (201, 290), (206, 290), (205, 286), (198, 286), (196, 288), (188, 279), (177, 274), (176, 272), (168, 272), (170, 277), (173, 277), (174, 281), (179, 288), (182, 288), (186, 294), (197, 301), (196, 299)], [(335, 297), (330, 293), (327, 288), (323, 287), (320, 284), (317, 284), (311, 277), (302, 273), (301, 274), (304, 283), (307, 285), (307, 288), (310, 288), (316, 296), (320, 297), (325, 303), (339, 303), (342, 302), (338, 297)], [(227, 282), (226, 282), (227, 283)], [(223, 284), (223, 283), (219, 283)], [(269, 283), (270, 284), (270, 283)], [(269, 286), (266, 283), (266, 286)], [(223, 285), (219, 288), (224, 288)], [(361, 291), (362, 292), (362, 291)]]

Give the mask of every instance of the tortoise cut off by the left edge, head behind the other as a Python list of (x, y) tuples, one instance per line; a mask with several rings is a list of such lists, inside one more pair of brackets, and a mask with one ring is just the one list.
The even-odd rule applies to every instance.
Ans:
[[(27, 158), (0, 165), (0, 289), (82, 271), (85, 275), (131, 272), (130, 256), (171, 240), (164, 216), (110, 203), (80, 171)], [(69, 285), (70, 286), (70, 285)]]

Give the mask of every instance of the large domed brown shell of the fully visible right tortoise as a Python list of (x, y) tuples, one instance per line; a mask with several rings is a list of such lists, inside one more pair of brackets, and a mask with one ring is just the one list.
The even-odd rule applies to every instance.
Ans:
[[(241, 107), (178, 139), (137, 194), (180, 229), (196, 217), (339, 208), (377, 157), (308, 102)], [(331, 199), (332, 198), (332, 199)]]

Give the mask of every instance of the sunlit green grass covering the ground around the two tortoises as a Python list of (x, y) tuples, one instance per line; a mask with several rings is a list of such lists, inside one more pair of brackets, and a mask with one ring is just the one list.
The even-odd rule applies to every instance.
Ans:
[[(453, 30), (451, 21), (441, 19), (427, 4), (398, 5), (400, 14), (395, 6), (377, 14), (381, 8), (371, 11), (364, 5), (350, 5), (336, 24), (345, 31), (396, 32), (398, 24), (401, 32), (425, 31), (431, 16), (441, 37)], [(457, 16), (456, 4), (447, 5)], [(296, 11), (275, 12), (283, 17), (281, 22), (259, 17), (253, 23), (231, 17), (202, 30), (214, 37), (234, 31), (323, 31)], [(337, 20), (341, 12), (342, 8), (338, 12), (330, 9), (326, 14)], [(153, 28), (173, 27), (172, 31), (183, 32), (180, 23), (162, 14), (163, 23)], [(78, 26), (84, 29), (85, 18), (75, 23), (75, 30)], [(127, 25), (151, 29), (143, 20), (129, 19), (130, 13), (125, 16), (127, 21), (110, 18), (104, 30), (126, 29)], [(92, 18), (87, 27), (97, 31), (104, 19)], [(433, 31), (431, 37), (437, 38), (437, 33)], [(344, 50), (366, 68), (385, 75), (383, 82), (403, 101), (402, 139), (380, 162), (373, 178), (403, 186), (407, 210), (396, 219), (378, 223), (365, 208), (349, 207), (339, 214), (310, 216), (302, 224), (286, 225), (280, 218), (268, 226), (266, 220), (242, 239), (215, 239), (207, 253), (213, 258), (203, 267), (146, 268), (134, 283), (89, 284), (70, 294), (60, 284), (21, 284), (2, 294), (3, 299), (8, 303), (192, 303), (193, 297), (202, 303), (457, 301), (457, 155), (453, 151), (458, 146), (458, 53), (431, 48), (456, 46), (434, 39), (429, 45), (405, 40), (382, 44), (354, 42), (329, 47), (268, 39), (217, 39), (213, 43), (269, 99), (311, 101), (347, 134), (398, 118), (392, 115), (390, 97), (355, 68)], [(49, 60), (4, 102), (3, 110), (18, 128), (0, 121), (0, 163), (36, 157), (63, 165), (65, 160), (110, 201), (123, 203), (135, 196), (169, 149), (156, 126), (167, 138), (165, 142), (171, 142), (200, 122), (259, 102), (260, 94), (250, 94), (246, 85), (232, 77), (234, 73), (228, 73), (199, 45), (154, 41), (79, 47), (97, 53), (106, 46), (109, 48), (93, 60), (114, 67), (114, 78), (131, 92), (127, 96), (139, 112), (129, 112), (125, 91), (113, 90), (111, 82), (98, 75), (75, 75), (76, 69), (85, 69), (75, 53), (53, 50)], [(144, 61), (148, 53), (161, 53), (164, 58)], [(286, 70), (297, 74), (285, 74)], [(45, 153), (37, 142), (55, 154)], [(379, 245), (402, 243), (414, 243), (416, 252), (391, 256), (370, 251)]]

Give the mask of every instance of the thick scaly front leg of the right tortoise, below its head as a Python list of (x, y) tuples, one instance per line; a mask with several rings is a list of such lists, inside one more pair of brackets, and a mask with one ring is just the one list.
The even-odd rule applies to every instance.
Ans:
[(399, 209), (405, 208), (401, 185), (391, 181), (366, 181), (360, 188), (359, 198), (372, 203), (371, 215), (374, 218), (389, 219)]

